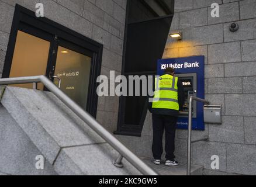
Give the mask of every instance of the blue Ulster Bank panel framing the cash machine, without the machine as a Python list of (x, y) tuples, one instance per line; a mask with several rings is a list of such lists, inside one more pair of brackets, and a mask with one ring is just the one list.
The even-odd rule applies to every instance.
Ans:
[[(205, 57), (195, 56), (186, 58), (169, 58), (158, 60), (157, 75), (163, 75), (166, 68), (171, 67), (175, 69), (175, 74), (196, 74), (196, 93), (194, 95), (198, 98), (205, 99)], [(175, 75), (174, 75), (175, 76)], [(178, 75), (177, 75), (178, 77)], [(184, 82), (191, 84), (191, 82)], [(178, 118), (178, 129), (188, 129), (188, 116), (181, 116)], [(205, 123), (203, 122), (203, 103), (196, 103), (196, 117), (192, 118), (193, 130), (205, 130)]]

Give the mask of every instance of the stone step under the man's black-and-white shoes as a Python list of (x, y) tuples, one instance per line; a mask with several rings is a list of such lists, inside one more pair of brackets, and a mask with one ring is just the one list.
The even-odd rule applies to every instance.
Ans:
[[(155, 165), (153, 159), (141, 157), (141, 159), (158, 172), (160, 175), (186, 175), (186, 164), (180, 163), (175, 167), (167, 167), (163, 164)], [(191, 165), (191, 175), (203, 175), (203, 167), (200, 165)]]

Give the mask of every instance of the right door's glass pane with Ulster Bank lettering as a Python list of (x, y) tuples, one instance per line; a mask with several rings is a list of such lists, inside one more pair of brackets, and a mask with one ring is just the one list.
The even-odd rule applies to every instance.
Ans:
[[(91, 72), (91, 57), (58, 47), (55, 76), (61, 79), (61, 90), (86, 109)], [(58, 84), (58, 80), (54, 83)]]

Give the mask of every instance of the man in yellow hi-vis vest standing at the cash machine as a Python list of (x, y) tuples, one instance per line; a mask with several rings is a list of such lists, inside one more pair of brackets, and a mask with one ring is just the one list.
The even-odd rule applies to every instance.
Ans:
[(174, 69), (167, 68), (165, 74), (155, 79), (153, 102), (149, 106), (153, 114), (153, 145), (154, 164), (161, 164), (162, 136), (165, 130), (165, 152), (167, 166), (178, 165), (174, 160), (175, 132), (178, 112), (184, 103), (184, 88), (178, 77), (174, 77)]

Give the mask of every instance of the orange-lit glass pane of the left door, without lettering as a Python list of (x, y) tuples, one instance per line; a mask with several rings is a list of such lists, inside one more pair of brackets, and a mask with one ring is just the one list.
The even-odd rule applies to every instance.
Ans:
[[(45, 75), (49, 49), (49, 41), (18, 31), (9, 77)], [(15, 86), (33, 88), (32, 84)], [(43, 85), (38, 88), (42, 90)]]

